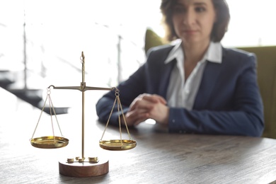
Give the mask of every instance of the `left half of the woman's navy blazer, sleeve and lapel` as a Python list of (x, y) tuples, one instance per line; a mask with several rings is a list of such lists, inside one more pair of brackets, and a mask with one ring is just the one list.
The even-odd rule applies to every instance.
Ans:
[[(155, 93), (165, 97), (165, 90), (163, 89), (167, 86), (172, 64), (165, 65), (163, 61), (172, 48), (171, 45), (161, 45), (151, 48), (147, 52), (146, 62), (129, 79), (117, 86), (120, 90), (123, 113), (127, 112), (132, 101), (142, 93)], [(114, 100), (115, 93), (114, 91), (110, 91), (96, 103), (96, 113), (100, 122), (108, 121)], [(119, 115), (121, 115), (121, 112), (117, 112), (117, 108), (115, 108), (110, 116), (110, 124), (118, 125)]]

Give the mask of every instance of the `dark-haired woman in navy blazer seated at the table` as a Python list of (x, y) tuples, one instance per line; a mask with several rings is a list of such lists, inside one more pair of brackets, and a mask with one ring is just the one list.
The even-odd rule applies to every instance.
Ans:
[[(226, 2), (162, 0), (161, 11), (168, 40), (180, 42), (149, 50), (146, 63), (117, 86), (127, 125), (151, 118), (169, 132), (260, 137), (255, 55), (220, 44), (230, 18)], [(99, 120), (108, 120), (114, 98), (100, 98)]]

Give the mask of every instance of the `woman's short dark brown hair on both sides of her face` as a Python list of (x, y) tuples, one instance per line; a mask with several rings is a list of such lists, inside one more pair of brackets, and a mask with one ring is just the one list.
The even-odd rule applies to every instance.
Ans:
[[(177, 0), (162, 0), (161, 13), (163, 14), (163, 25), (166, 32), (166, 40), (173, 41), (178, 38), (176, 30), (173, 27), (173, 7)], [(213, 42), (220, 42), (227, 31), (230, 13), (229, 7), (225, 0), (212, 0), (214, 10), (216, 11), (217, 21), (213, 25), (211, 40)]]

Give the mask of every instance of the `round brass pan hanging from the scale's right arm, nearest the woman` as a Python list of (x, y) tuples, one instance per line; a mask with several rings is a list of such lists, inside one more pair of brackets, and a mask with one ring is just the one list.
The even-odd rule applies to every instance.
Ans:
[(136, 141), (134, 140), (115, 139), (115, 140), (100, 141), (100, 147), (102, 149), (107, 149), (112, 151), (132, 149), (135, 146), (136, 146)]

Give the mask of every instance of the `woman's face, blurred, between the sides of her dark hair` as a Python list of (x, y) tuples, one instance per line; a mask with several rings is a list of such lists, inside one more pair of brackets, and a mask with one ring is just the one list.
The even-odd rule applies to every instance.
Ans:
[(215, 21), (212, 0), (178, 0), (173, 7), (173, 26), (184, 43), (209, 43)]

